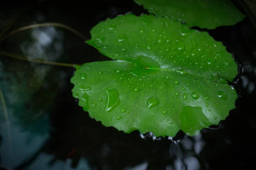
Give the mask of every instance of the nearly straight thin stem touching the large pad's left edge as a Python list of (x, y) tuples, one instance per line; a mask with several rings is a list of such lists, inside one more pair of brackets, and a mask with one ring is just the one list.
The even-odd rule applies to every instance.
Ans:
[(75, 65), (79, 65), (79, 64), (69, 64), (69, 63), (62, 63), (62, 62), (50, 62), (50, 61), (43, 61), (40, 59), (31, 59), (30, 57), (23, 57), (17, 54), (12, 54), (9, 52), (5, 52), (5, 51), (0, 51), (0, 54), (7, 56), (7, 57), (12, 57), (15, 59), (20, 59), (23, 61), (29, 61), (29, 62), (37, 62), (37, 63), (42, 63), (42, 64), (48, 64), (48, 65), (59, 65), (59, 66), (64, 66), (64, 67), (74, 67)]

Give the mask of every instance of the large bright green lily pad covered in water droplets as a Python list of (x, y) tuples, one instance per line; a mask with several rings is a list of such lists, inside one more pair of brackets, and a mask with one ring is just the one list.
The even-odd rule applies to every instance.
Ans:
[(99, 23), (87, 43), (113, 61), (76, 67), (71, 82), (79, 105), (105, 126), (129, 133), (195, 135), (233, 109), (237, 74), (232, 54), (207, 32), (152, 15)]

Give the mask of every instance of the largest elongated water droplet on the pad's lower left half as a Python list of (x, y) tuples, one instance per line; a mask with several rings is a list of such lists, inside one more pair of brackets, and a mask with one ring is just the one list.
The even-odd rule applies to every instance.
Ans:
[(105, 93), (107, 95), (105, 111), (111, 112), (120, 104), (119, 93), (113, 88), (106, 88)]

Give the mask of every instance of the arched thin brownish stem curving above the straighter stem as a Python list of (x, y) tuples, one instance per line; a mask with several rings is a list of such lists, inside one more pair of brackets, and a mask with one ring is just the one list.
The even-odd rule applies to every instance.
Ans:
[(20, 32), (20, 31), (24, 31), (27, 29), (31, 29), (31, 28), (37, 28), (37, 27), (48, 27), (48, 26), (55, 26), (55, 27), (60, 27), (60, 28), (65, 28), (71, 32), (73, 32), (74, 34), (78, 35), (79, 37), (81, 37), (84, 40), (88, 40), (87, 37), (85, 37), (83, 34), (81, 34), (79, 31), (76, 31), (75, 29), (71, 28), (70, 26), (66, 26), (64, 24), (61, 23), (41, 23), (41, 24), (34, 24), (34, 25), (30, 25), (30, 26), (24, 26), (21, 28), (16, 29), (15, 31), (10, 32), (8, 35), (6, 35), (5, 37), (3, 37), (2, 39), (0, 39), (0, 42), (2, 42), (3, 40), (5, 40), (7, 37), (10, 37), (11, 35)]

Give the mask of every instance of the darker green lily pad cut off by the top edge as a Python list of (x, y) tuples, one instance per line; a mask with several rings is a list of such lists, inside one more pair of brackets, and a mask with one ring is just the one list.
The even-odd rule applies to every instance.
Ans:
[(235, 25), (245, 17), (229, 0), (135, 0), (158, 17), (180, 20), (188, 26), (214, 29)]

